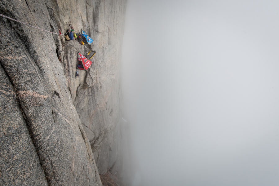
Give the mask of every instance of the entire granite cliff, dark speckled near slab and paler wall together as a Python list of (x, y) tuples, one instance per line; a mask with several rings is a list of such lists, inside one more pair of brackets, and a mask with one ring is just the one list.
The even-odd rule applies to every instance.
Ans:
[[(0, 184), (102, 185), (122, 177), (120, 60), (126, 0), (0, 2), (0, 12), (92, 45), (0, 17)], [(77, 52), (95, 50), (79, 70)], [(59, 60), (61, 59), (61, 60)]]

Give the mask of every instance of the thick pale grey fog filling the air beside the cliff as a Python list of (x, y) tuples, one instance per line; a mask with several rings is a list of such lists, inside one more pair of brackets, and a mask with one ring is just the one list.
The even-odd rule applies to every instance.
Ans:
[(133, 186), (279, 184), (277, 1), (128, 0)]

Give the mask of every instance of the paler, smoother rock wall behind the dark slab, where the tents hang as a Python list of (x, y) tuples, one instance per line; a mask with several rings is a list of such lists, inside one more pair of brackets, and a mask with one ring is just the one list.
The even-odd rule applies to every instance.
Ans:
[[(118, 142), (120, 141), (120, 60), (126, 0), (77, 1), (71, 5), (53, 3), (54, 20), (58, 25), (73, 24), (93, 38), (92, 45), (78, 42), (57, 42), (67, 86), (86, 131), (100, 174), (120, 168)], [(79, 5), (79, 6), (76, 6)], [(69, 6), (68, 8), (65, 8)], [(65, 29), (67, 27), (64, 27)], [(77, 51), (97, 54), (88, 72), (76, 71)]]

